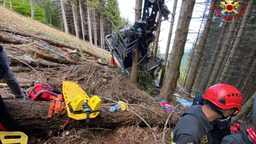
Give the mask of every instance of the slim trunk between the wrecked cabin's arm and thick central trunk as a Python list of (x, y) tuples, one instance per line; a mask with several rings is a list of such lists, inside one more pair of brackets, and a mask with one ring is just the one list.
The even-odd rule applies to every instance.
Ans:
[(167, 39), (167, 45), (166, 45), (166, 49), (165, 49), (165, 66), (162, 69), (160, 81), (159, 81), (160, 86), (163, 85), (163, 79), (165, 77), (165, 68), (166, 68), (166, 64), (167, 64), (167, 58), (168, 58), (168, 54), (169, 54), (169, 48), (170, 48), (170, 43), (171, 43), (171, 38), (172, 38), (172, 33), (173, 33), (173, 24), (174, 24), (174, 18), (176, 15), (177, 3), (178, 3), (178, 0), (174, 0), (172, 19), (171, 19), (171, 24), (170, 24), (170, 29), (169, 29), (168, 39)]

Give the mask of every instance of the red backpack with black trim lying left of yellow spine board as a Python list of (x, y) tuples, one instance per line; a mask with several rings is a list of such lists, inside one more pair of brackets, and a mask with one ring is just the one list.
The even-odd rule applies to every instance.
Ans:
[[(62, 95), (62, 92), (57, 88), (36, 83), (27, 94), (27, 98), (32, 101), (52, 101), (57, 99), (58, 94)], [(62, 101), (64, 102), (64, 99)]]

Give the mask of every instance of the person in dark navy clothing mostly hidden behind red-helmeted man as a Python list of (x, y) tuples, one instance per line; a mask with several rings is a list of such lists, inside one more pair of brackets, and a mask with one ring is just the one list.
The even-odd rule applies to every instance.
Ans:
[[(203, 98), (203, 94), (196, 95), (195, 99), (193, 100), (192, 106), (195, 105), (204, 105), (205, 99)], [(226, 118), (224, 120), (214, 120), (210, 122), (210, 125), (212, 126), (211, 132), (211, 138), (212, 138), (212, 144), (220, 144), (222, 139), (230, 134), (230, 122), (231, 117), (234, 117), (235, 115), (231, 115), (229, 118)]]

